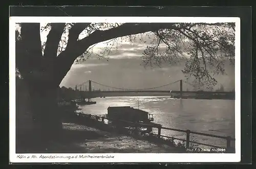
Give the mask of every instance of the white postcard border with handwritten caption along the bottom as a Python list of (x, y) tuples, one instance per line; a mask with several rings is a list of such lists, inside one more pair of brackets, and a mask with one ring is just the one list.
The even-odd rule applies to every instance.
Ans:
[[(15, 23), (19, 22), (235, 22), (235, 135), (236, 153), (103, 153), (16, 154), (15, 152)], [(26, 162), (239, 162), (241, 160), (240, 18), (238, 17), (10, 17), (9, 18), (9, 156), (11, 163)], [(34, 156), (33, 156), (34, 155)], [(40, 155), (49, 158), (39, 158)], [(83, 155), (83, 156), (81, 156)], [(32, 158), (32, 156), (34, 158)], [(56, 156), (63, 158), (55, 158)], [(68, 159), (70, 156), (70, 159)], [(73, 158), (71, 158), (73, 156)], [(80, 156), (80, 157), (79, 157)], [(112, 158), (114, 156), (114, 158)], [(24, 158), (20, 158), (24, 157)], [(35, 158), (36, 157), (36, 158)], [(52, 157), (52, 158), (51, 158)], [(64, 158), (66, 157), (66, 158)], [(76, 157), (76, 158), (75, 158)], [(84, 158), (82, 158), (84, 157)]]

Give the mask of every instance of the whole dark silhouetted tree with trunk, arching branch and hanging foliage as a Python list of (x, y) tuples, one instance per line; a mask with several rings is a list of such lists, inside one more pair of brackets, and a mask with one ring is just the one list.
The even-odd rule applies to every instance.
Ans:
[[(212, 74), (224, 73), (224, 62), (234, 61), (234, 23), (49, 23), (41, 29), (39, 23), (17, 24), (21, 28), (16, 31), (16, 67), (28, 86), (40, 134), (61, 129), (56, 91), (74, 61), (90, 57), (97, 43), (107, 41), (99, 55), (105, 57), (120, 38), (133, 41), (143, 34), (152, 39), (142, 53), (145, 66), (185, 59), (183, 72), (210, 85), (216, 84)], [(41, 44), (44, 30), (50, 32)], [(82, 32), (87, 36), (79, 39)]]

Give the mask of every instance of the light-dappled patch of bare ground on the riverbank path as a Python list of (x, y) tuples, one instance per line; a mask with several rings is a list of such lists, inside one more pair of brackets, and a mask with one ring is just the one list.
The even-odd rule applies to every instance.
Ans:
[[(65, 123), (63, 128), (88, 132), (88, 139), (75, 144), (87, 153), (174, 153), (180, 151), (176, 147), (155, 144), (139, 138), (83, 125)], [(95, 138), (91, 136), (95, 136)]]

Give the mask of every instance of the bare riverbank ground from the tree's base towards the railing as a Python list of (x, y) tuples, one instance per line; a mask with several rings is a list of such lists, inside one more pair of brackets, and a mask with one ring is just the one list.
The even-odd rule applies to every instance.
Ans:
[[(102, 131), (94, 127), (63, 123), (59, 139), (35, 143), (28, 134), (17, 153), (178, 153), (180, 148), (156, 144), (123, 134)], [(26, 138), (26, 140), (25, 140)], [(29, 141), (30, 140), (30, 141)], [(20, 140), (22, 142), (22, 140)], [(33, 143), (31, 143), (33, 142)]]

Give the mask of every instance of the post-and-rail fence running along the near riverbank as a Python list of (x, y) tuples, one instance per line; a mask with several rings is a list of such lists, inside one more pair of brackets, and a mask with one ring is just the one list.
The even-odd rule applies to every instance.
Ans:
[[(112, 120), (112, 121), (118, 121), (118, 122), (124, 122), (124, 123), (130, 123), (130, 124), (135, 124), (135, 130), (137, 130), (137, 127), (151, 127), (151, 128), (157, 128), (158, 129), (158, 133), (153, 135), (156, 135), (158, 138), (160, 137), (166, 137), (166, 138), (172, 138), (172, 139), (177, 139), (177, 140), (181, 140), (186, 142), (186, 148), (189, 148), (189, 144), (190, 143), (195, 143), (198, 145), (203, 145), (203, 146), (208, 146), (208, 147), (212, 147), (212, 148), (220, 148), (220, 149), (225, 149), (223, 147), (219, 147), (219, 146), (214, 146), (214, 145), (208, 145), (208, 144), (204, 144), (204, 143), (199, 143), (199, 142), (194, 142), (190, 140), (190, 134), (197, 134), (197, 135), (204, 135), (204, 136), (209, 136), (209, 137), (216, 137), (216, 138), (221, 138), (221, 139), (226, 139), (226, 149), (230, 150), (231, 147), (231, 141), (235, 140), (234, 138), (230, 137), (230, 136), (220, 136), (220, 135), (214, 135), (214, 134), (207, 134), (207, 133), (201, 133), (201, 132), (195, 132), (195, 131), (190, 131), (190, 130), (182, 130), (182, 129), (175, 129), (175, 128), (167, 128), (167, 127), (162, 127), (161, 125), (151, 125), (151, 124), (144, 124), (144, 123), (139, 123), (139, 122), (131, 122), (131, 121), (125, 121), (125, 120), (119, 120), (119, 119), (113, 119), (113, 118), (108, 118), (106, 115), (89, 115), (90, 117), (92, 117), (95, 120), (99, 120), (101, 119), (101, 121), (104, 123), (104, 119), (107, 120)], [(166, 136), (166, 135), (161, 135), (161, 129), (165, 129), (165, 130), (172, 130), (172, 131), (179, 131), (179, 132), (185, 132), (186, 133), (186, 139), (181, 139), (181, 138), (175, 138), (175, 137), (170, 137), (170, 136)]]

